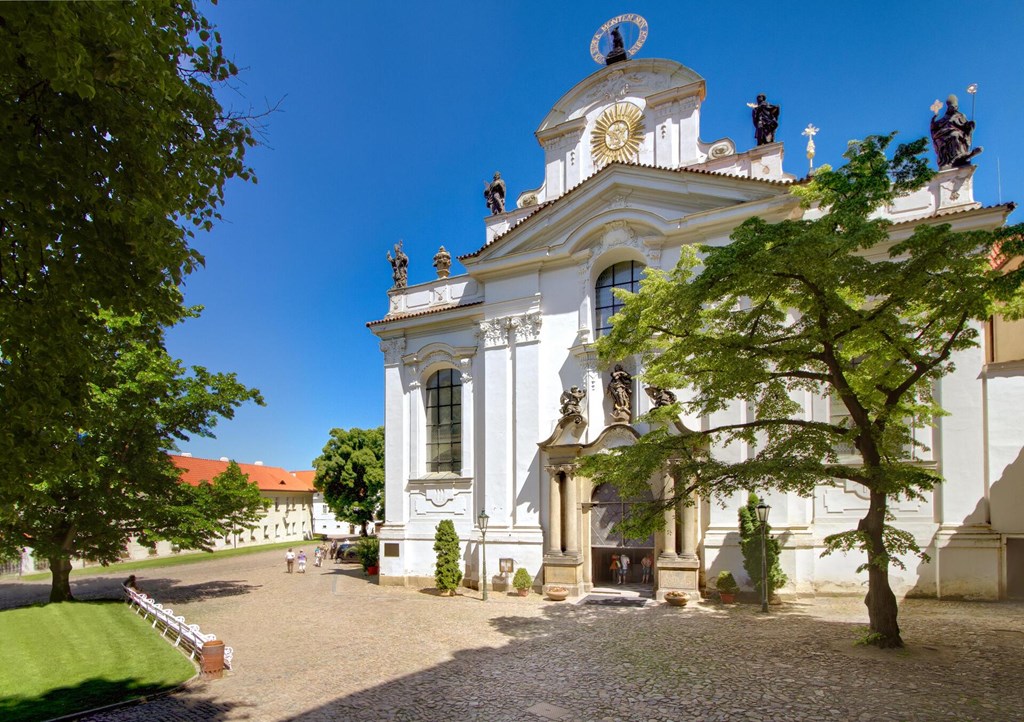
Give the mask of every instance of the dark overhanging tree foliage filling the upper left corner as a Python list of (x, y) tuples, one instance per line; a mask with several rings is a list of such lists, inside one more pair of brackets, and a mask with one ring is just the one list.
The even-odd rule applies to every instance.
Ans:
[[(0, 4), (0, 508), (81, 474), (105, 310), (184, 315), (195, 233), (252, 178), (238, 70), (191, 0)], [(258, 130), (258, 128), (256, 128)], [(42, 481), (40, 481), (42, 479)]]

